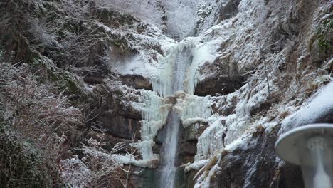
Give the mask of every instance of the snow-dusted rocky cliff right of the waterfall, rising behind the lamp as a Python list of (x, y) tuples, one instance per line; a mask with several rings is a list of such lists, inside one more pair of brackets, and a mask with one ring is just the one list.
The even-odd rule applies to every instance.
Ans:
[[(283, 4), (277, 3), (277, 1), (260, 1), (260, 3), (257, 1), (258, 4), (256, 5), (260, 5), (259, 10), (255, 9), (253, 6), (255, 1), (246, 1), (245, 6), (243, 4), (245, 1), (242, 1), (239, 6), (236, 4), (231, 4), (231, 2), (232, 1), (228, 1), (225, 6), (220, 8), (219, 15), (220, 20), (222, 20), (221, 23), (233, 25), (230, 28), (231, 30), (238, 29), (236, 25), (237, 23), (240, 23), (240, 19), (242, 19), (239, 14), (241, 14), (241, 11), (244, 11), (245, 9), (251, 10), (248, 12), (248, 15), (258, 16), (259, 14), (256, 13), (260, 12), (261, 14), (265, 12), (265, 14), (263, 14), (265, 16), (262, 15), (263, 17), (258, 20), (258, 22), (253, 22), (254, 26), (246, 28), (248, 30), (244, 31), (244, 33), (252, 33), (256, 27), (260, 27), (260, 25), (265, 21), (267, 21), (268, 24), (274, 24), (271, 25), (271, 28), (263, 27), (264, 29), (260, 32), (260, 39), (258, 39), (258, 43), (268, 43), (270, 46), (268, 48), (270, 49), (266, 51), (257, 51), (257, 58), (251, 60), (248, 59), (248, 57), (252, 56), (251, 53), (255, 51), (252, 51), (252, 49), (256, 48), (258, 43), (252, 43), (250, 48), (248, 48), (250, 49), (250, 53), (248, 53), (246, 56), (243, 56), (243, 60), (240, 58), (240, 56), (242, 56), (240, 54), (244, 53), (244, 51), (246, 51), (245, 48), (247, 48), (242, 48), (242, 46), (246, 46), (247, 43), (250, 43), (250, 41), (255, 41), (255, 37), (235, 36), (231, 37), (231, 41), (226, 42), (226, 45), (221, 45), (221, 60), (211, 64), (206, 63), (199, 68), (201, 75), (205, 75), (205, 78), (201, 80), (199, 85), (197, 85), (195, 94), (216, 95), (215, 93), (219, 93), (226, 95), (228, 93), (232, 93), (221, 98), (215, 97), (219, 98), (220, 100), (218, 100), (216, 106), (212, 106), (213, 110), (217, 112), (218, 115), (223, 115), (226, 117), (228, 117), (228, 115), (237, 116), (239, 115), (238, 110), (240, 110), (241, 112), (243, 111), (245, 117), (250, 119), (250, 121), (246, 122), (245, 125), (245, 129), (248, 131), (246, 132), (247, 135), (240, 137), (240, 140), (244, 140), (244, 142), (238, 147), (233, 147), (231, 150), (223, 150), (223, 152), (218, 152), (221, 157), (219, 158), (218, 162), (214, 163), (216, 164), (216, 166), (214, 166), (216, 167), (216, 170), (211, 173), (211, 179), (207, 178), (209, 181), (209, 187), (305, 187), (302, 180), (302, 172), (300, 167), (280, 160), (280, 158), (275, 154), (275, 142), (280, 136), (281, 132), (284, 132), (285, 127), (292, 127), (292, 125), (302, 126), (308, 123), (317, 122), (332, 123), (332, 110), (330, 110), (332, 108), (328, 108), (327, 106), (322, 107), (327, 111), (321, 113), (319, 116), (315, 116), (313, 112), (314, 110), (317, 111), (320, 109), (314, 109), (312, 110), (312, 113), (310, 110), (310, 114), (305, 115), (310, 117), (309, 121), (301, 121), (300, 118), (293, 117), (292, 115), (290, 116), (292, 118), (286, 119), (285, 117), (290, 114), (275, 113), (273, 111), (276, 111), (277, 108), (281, 108), (281, 100), (283, 100), (282, 97), (288, 98), (287, 101), (292, 101), (295, 100), (295, 98), (300, 97), (302, 98), (301, 103), (304, 103), (307, 100), (306, 98), (308, 96), (304, 98), (304, 95), (298, 94), (294, 95), (295, 98), (290, 96), (282, 96), (284, 94), (281, 92), (281, 90), (286, 87), (285, 83), (289, 82), (290, 79), (297, 77), (297, 73), (293, 72), (292, 70), (300, 70), (300, 72), (302, 72), (302, 78), (305, 78), (305, 75), (307, 74), (305, 72), (315, 72), (315, 76), (310, 82), (309, 78), (307, 78), (308, 80), (304, 79), (304, 81), (300, 83), (302, 87), (306, 88), (307, 85), (311, 85), (310, 83), (319, 77), (320, 74), (317, 72), (318, 67), (327, 68), (326, 70), (332, 69), (332, 3), (328, 3), (328, 1), (321, 1), (321, 3), (319, 3), (319, 1), (313, 1), (310, 6), (310, 4), (307, 4), (307, 1), (302, 0), (284, 1)], [(252, 7), (250, 7), (251, 4)], [(288, 12), (288, 14), (285, 15), (285, 17), (282, 19), (281, 16), (277, 16), (281, 13), (281, 11), (275, 11), (275, 8), (273, 7), (280, 7), (281, 10), (285, 10), (285, 12)], [(223, 9), (226, 9), (225, 12), (222, 11)], [(236, 15), (237, 13), (238, 15)], [(235, 18), (231, 18), (235, 15)], [(231, 21), (223, 21), (224, 19), (228, 18), (231, 18)], [(244, 19), (242, 21), (244, 24), (247, 22), (247, 20), (245, 21)], [(224, 28), (224, 26), (222, 28)], [(213, 34), (216, 35), (216, 33)], [(225, 33), (221, 31), (220, 34), (224, 35)], [(238, 38), (241, 37), (244, 38), (244, 42), (236, 43), (233, 45), (233, 41), (237, 41)], [(228, 53), (229, 51), (225, 50), (228, 48), (231, 48), (230, 53)], [(302, 53), (300, 53), (301, 51)], [(274, 58), (277, 53), (284, 53), (282, 56), (285, 58), (280, 61), (280, 65), (276, 64), (275, 69), (273, 68), (273, 64), (278, 61), (277, 58)], [(231, 54), (231, 56), (228, 56), (229, 54)], [(234, 56), (235, 54), (236, 56)], [(272, 61), (273, 59), (275, 60)], [(249, 63), (248, 67), (245, 68), (245, 66), (243, 66), (245, 64), (240, 63), (240, 61), (251, 61), (252, 63)], [(270, 69), (269, 73), (265, 73), (265, 68), (268, 62), (272, 68)], [(292, 67), (291, 62), (295, 62), (294, 65), (296, 66)], [(259, 66), (260, 63), (262, 66)], [(323, 66), (325, 63), (327, 66)], [(253, 76), (255, 75), (254, 72), (258, 73), (258, 71), (261, 73), (261, 78), (257, 77), (258, 80), (253, 81), (253, 78), (255, 78)], [(291, 72), (287, 73), (287, 71)], [(250, 72), (250, 75), (244, 74), (248, 72)], [(325, 74), (327, 74), (327, 72)], [(276, 78), (274, 78), (275, 75)], [(280, 77), (280, 75), (282, 76)], [(289, 79), (287, 78), (288, 75), (291, 75)], [(266, 94), (263, 95), (262, 93), (264, 88), (255, 89), (257, 83), (260, 82), (260, 80), (265, 80), (265, 77), (268, 83), (267, 85), (270, 85), (270, 87), (275, 85), (277, 87), (275, 88), (274, 92), (270, 90), (268, 98), (264, 97)], [(245, 80), (255, 84), (250, 85), (249, 89), (247, 90), (245, 89), (246, 87), (242, 87)], [(270, 81), (272, 83), (270, 83)], [(280, 87), (278, 86), (279, 84), (283, 86)], [(326, 83), (322, 81), (321, 84), (324, 85)], [(238, 90), (238, 88), (240, 89)], [(311, 90), (311, 92), (317, 90), (316, 87), (314, 88), (315, 89), (312, 88), (309, 90)], [(235, 90), (236, 94), (233, 96), (233, 92)], [(305, 90), (302, 91), (305, 92)], [(323, 91), (320, 90), (320, 92)], [(244, 105), (240, 104), (240, 102), (242, 102), (242, 95), (243, 98), (245, 98), (245, 100), (243, 100), (245, 101)], [(225, 105), (226, 99), (222, 100), (224, 97), (230, 100), (228, 103), (231, 103), (231, 105)], [(234, 100), (232, 99), (233, 97)], [(254, 98), (255, 100), (253, 100)], [(258, 101), (260, 98), (266, 98), (268, 100), (262, 100), (262, 102), (259, 103)], [(325, 98), (327, 99), (328, 97)], [(313, 98), (310, 100), (313, 100)], [(297, 109), (301, 103), (296, 102), (288, 104), (285, 105), (284, 108), (289, 108), (292, 106), (292, 108), (295, 107)], [(246, 105), (248, 105), (248, 108), (246, 108)], [(274, 106), (277, 107), (274, 108)], [(291, 112), (295, 113), (295, 111)], [(260, 117), (255, 117), (257, 115)], [(300, 115), (300, 113), (298, 115)], [(275, 118), (276, 116), (280, 117)], [(240, 115), (240, 117), (243, 116)], [(255, 125), (253, 122), (257, 120), (265, 120), (266, 118), (269, 119), (268, 122), (276, 122), (276, 126), (272, 130), (265, 130), (264, 127), (261, 127), (260, 124), (263, 122), (260, 122), (258, 124), (259, 126), (253, 126), (253, 124)], [(288, 122), (289, 120), (290, 122)], [(288, 122), (287, 125), (284, 125), (284, 122)], [(228, 122), (226, 122), (226, 125), (227, 124)], [(231, 127), (226, 128), (229, 130), (229, 132), (231, 132)], [(236, 131), (238, 130), (240, 131), (240, 128), (238, 129), (237, 127)], [(213, 133), (215, 134), (215, 132)], [(209, 160), (213, 161), (212, 158)], [(207, 170), (207, 174), (209, 170)], [(207, 174), (203, 175), (202, 177), (209, 176)], [(199, 184), (203, 182), (202, 179), (197, 181)]]

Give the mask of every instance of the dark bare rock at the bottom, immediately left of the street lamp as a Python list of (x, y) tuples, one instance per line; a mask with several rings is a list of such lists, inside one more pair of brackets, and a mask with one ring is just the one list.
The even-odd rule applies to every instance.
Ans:
[(277, 130), (269, 134), (258, 130), (244, 148), (224, 155), (211, 187), (304, 187), (300, 167), (276, 162), (276, 139)]

